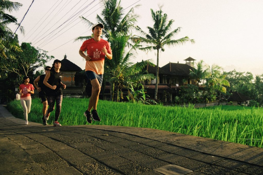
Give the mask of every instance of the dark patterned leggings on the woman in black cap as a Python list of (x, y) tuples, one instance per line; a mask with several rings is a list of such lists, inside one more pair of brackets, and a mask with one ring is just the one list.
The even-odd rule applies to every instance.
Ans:
[(55, 121), (58, 121), (61, 112), (62, 97), (63, 97), (62, 95), (48, 96), (49, 107), (47, 113), (50, 113), (55, 109), (55, 101), (56, 101)]

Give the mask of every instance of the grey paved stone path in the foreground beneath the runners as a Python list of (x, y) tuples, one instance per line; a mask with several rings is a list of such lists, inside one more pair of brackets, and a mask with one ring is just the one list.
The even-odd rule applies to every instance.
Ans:
[(263, 174), (263, 149), (156, 129), (53, 127), (0, 106), (0, 174)]

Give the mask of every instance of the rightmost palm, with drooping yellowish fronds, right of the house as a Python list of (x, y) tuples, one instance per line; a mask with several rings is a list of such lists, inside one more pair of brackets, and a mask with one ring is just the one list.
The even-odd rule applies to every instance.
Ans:
[(206, 78), (206, 83), (209, 87), (213, 87), (215, 90), (218, 90), (219, 92), (226, 93), (226, 87), (230, 86), (229, 81), (227, 81), (225, 78), (227, 74), (221, 74), (221, 71), (223, 71), (223, 68), (213, 64), (211, 67), (209, 65), (206, 66), (208, 71), (208, 78)]

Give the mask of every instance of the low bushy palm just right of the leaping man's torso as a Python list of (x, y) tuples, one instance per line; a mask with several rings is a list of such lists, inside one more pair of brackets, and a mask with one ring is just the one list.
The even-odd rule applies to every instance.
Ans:
[(154, 78), (153, 74), (145, 74), (142, 70), (147, 64), (153, 65), (149, 61), (142, 61), (133, 64), (131, 59), (136, 56), (135, 48), (138, 43), (131, 48), (128, 47), (130, 36), (118, 36), (110, 39), (112, 59), (105, 59), (105, 79), (111, 84), (111, 99), (119, 101), (122, 96), (122, 89), (136, 86), (139, 82)]

